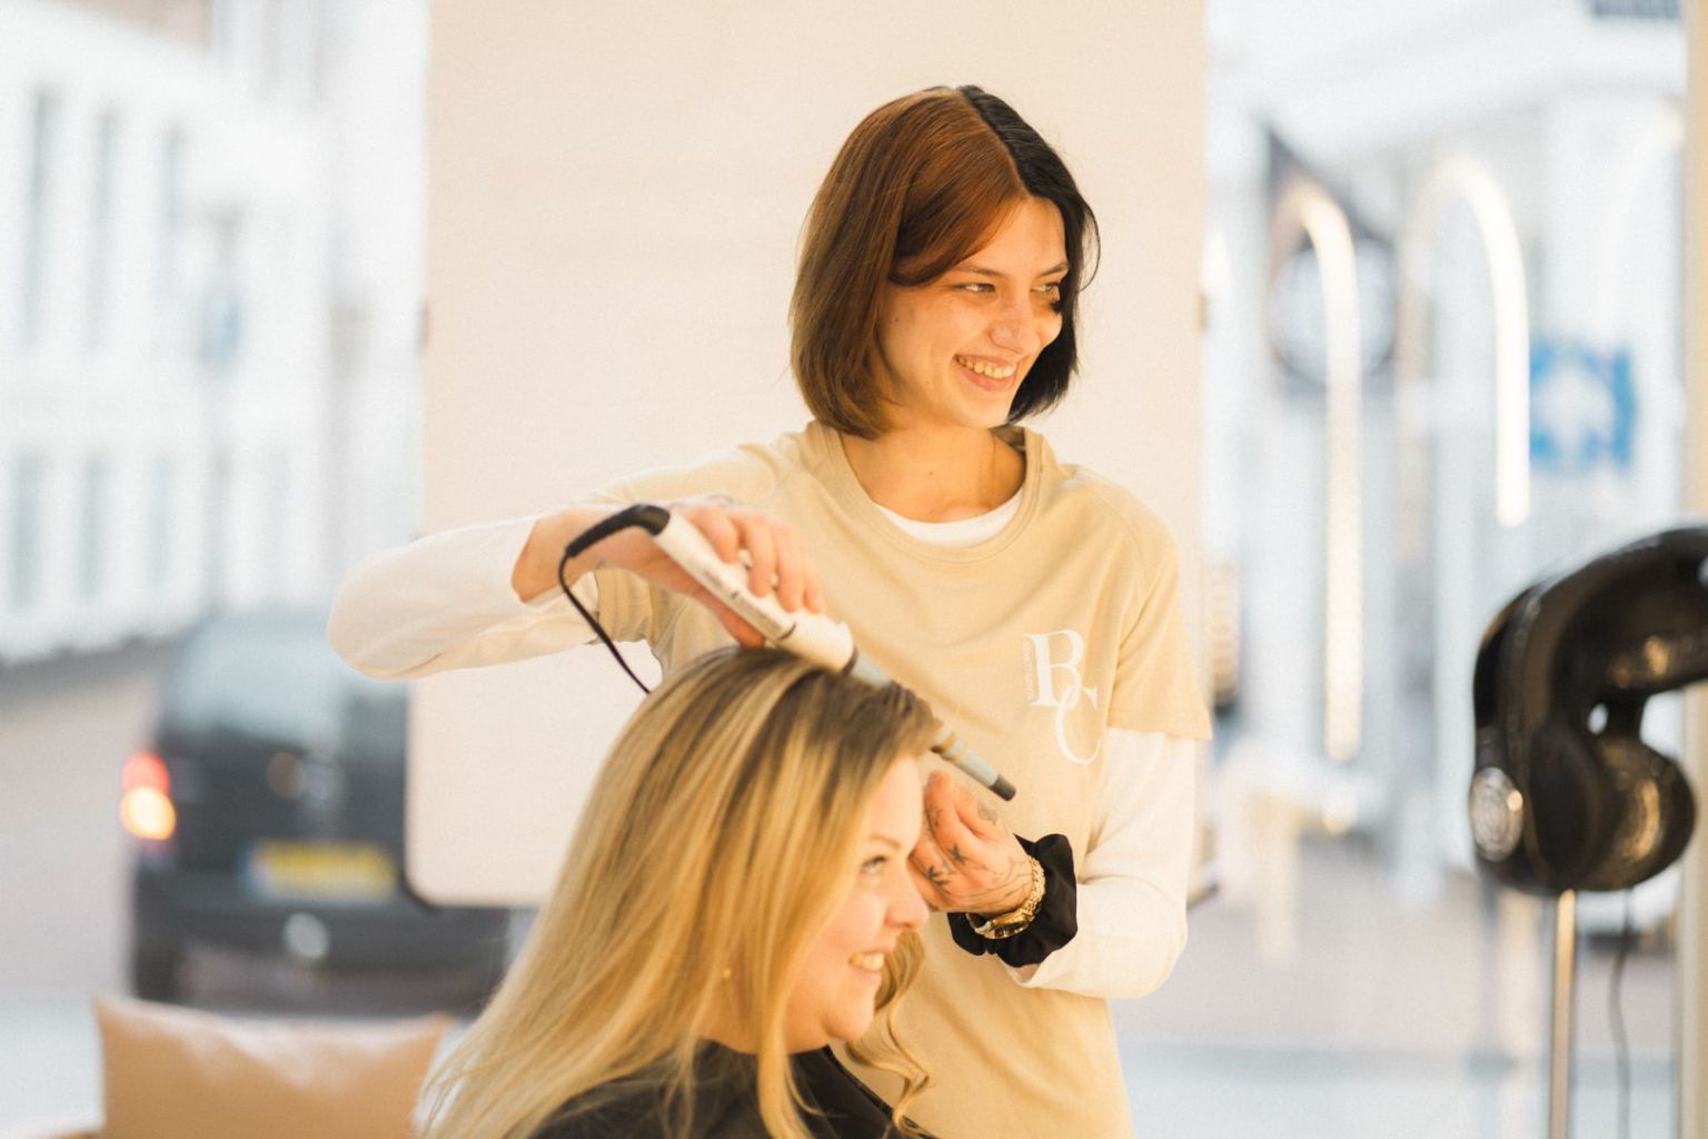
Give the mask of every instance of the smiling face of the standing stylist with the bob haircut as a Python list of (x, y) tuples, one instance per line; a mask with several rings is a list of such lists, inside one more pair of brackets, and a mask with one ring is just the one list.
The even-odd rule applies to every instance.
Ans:
[(878, 352), (886, 427), (989, 430), (1008, 420), (1027, 371), (1062, 330), (1062, 217), (1027, 198), (989, 242), (936, 280), (890, 287)]

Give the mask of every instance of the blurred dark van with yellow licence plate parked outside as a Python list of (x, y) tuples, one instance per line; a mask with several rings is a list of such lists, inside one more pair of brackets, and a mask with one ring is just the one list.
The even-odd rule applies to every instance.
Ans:
[(225, 615), (184, 639), (123, 777), (138, 996), (178, 999), (191, 946), (497, 984), (509, 912), (408, 888), (407, 721), (408, 688), (352, 673), (325, 613)]

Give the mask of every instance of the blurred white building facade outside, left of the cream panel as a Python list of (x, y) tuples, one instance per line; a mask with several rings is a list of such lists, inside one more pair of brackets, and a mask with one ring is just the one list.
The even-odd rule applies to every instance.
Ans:
[(408, 534), (422, 9), (0, 0), (0, 663)]

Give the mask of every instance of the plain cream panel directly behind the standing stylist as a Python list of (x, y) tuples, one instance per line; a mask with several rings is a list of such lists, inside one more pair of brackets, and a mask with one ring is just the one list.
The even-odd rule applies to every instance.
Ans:
[[(1172, 524), (1196, 627), (1202, 79), (1197, 2), (436, 5), (425, 529), (798, 427), (786, 307), (818, 179), (878, 104), (975, 82), (1098, 212), (1083, 381), (1045, 429)], [(589, 651), (422, 688), (417, 888), (536, 900), (629, 681)]]

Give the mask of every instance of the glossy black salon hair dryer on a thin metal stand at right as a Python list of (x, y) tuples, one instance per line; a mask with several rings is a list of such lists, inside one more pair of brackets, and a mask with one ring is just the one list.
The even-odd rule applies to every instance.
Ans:
[(1515, 596), (1472, 680), (1471, 833), (1494, 881), (1556, 898), (1549, 1136), (1566, 1136), (1576, 891), (1676, 862), (1696, 801), (1643, 709), (1708, 678), (1708, 526), (1669, 529)]

